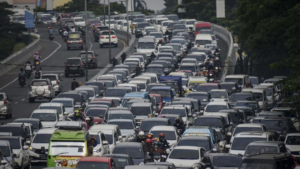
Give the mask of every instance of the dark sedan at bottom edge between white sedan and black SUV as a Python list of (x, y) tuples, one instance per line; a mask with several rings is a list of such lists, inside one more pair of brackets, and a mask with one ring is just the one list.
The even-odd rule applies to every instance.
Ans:
[(207, 153), (199, 163), (199, 169), (239, 167), (242, 159), (238, 155), (226, 153)]

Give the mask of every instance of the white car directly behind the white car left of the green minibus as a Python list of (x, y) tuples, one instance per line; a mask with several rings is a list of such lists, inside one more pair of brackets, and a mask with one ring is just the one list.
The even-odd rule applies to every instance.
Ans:
[(57, 110), (54, 109), (37, 109), (34, 110), (30, 118), (41, 120), (44, 128), (53, 128), (57, 121), (61, 121)]

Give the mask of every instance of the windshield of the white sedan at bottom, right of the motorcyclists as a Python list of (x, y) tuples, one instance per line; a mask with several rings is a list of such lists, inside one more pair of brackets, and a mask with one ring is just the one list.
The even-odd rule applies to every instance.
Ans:
[(199, 151), (198, 150), (190, 150), (190, 149), (173, 149), (170, 153), (168, 159), (186, 159), (186, 160), (197, 160), (199, 159)]

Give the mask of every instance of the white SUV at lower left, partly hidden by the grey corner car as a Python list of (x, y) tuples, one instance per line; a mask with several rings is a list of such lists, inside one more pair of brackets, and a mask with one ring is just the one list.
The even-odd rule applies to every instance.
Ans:
[(31, 168), (29, 146), (26, 145), (26, 142), (29, 143), (30, 141), (25, 141), (24, 138), (21, 136), (0, 136), (0, 140), (9, 141), (13, 153), (16, 154), (14, 158), (15, 165), (13, 167), (26, 168), (26, 169)]

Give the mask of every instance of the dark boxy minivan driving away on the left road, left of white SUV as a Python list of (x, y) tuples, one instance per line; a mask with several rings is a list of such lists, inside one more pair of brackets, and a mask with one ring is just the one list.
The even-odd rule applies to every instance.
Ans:
[(67, 37), (67, 50), (70, 48), (83, 49), (83, 38), (81, 32), (69, 32)]

